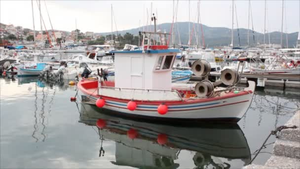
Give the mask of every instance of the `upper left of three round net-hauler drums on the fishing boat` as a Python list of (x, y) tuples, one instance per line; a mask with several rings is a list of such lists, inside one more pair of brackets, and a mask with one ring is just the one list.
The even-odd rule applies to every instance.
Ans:
[(191, 65), (191, 71), (196, 76), (206, 77), (209, 74), (210, 70), (210, 63), (204, 59), (197, 60)]

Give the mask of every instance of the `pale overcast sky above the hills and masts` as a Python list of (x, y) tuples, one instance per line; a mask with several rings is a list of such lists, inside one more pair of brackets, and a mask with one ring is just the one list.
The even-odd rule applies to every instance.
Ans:
[[(152, 13), (157, 11), (158, 23), (171, 23), (173, 17), (173, 0), (41, 0), (40, 2), (46, 28), (51, 27), (45, 3), (53, 29), (63, 31), (75, 30), (76, 19), (77, 29), (81, 32), (111, 32), (111, 4), (118, 31), (137, 28), (140, 24), (145, 25), (147, 8), (150, 15), (151, 2)], [(239, 28), (248, 28), (248, 2), (248, 0), (235, 0)], [(175, 0), (176, 3), (177, 0)], [(188, 0), (179, 1), (178, 21), (188, 21), (188, 3)], [(263, 32), (264, 0), (252, 0), (251, 5), (254, 30)], [(298, 32), (300, 30), (300, 0), (285, 0), (285, 6), (287, 19), (285, 21), (284, 16), (284, 32), (286, 29), (288, 33)], [(231, 8), (231, 0), (201, 0), (201, 21), (210, 27), (231, 28)], [(281, 0), (267, 0), (266, 30), (268, 32), (281, 31), (281, 10)], [(190, 21), (197, 22), (196, 14), (197, 0), (190, 0)], [(36, 0), (34, 0), (34, 17), (36, 30), (40, 30)], [(0, 0), (0, 22), (33, 29), (31, 0)], [(234, 27), (236, 26), (234, 18)], [(115, 31), (114, 24), (113, 31)]]

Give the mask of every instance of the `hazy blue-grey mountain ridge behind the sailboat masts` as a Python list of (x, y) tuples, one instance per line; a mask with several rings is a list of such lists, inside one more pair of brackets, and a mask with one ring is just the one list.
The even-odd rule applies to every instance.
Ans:
[[(163, 32), (170, 32), (172, 23), (163, 23), (157, 25), (157, 30), (162, 30)], [(192, 44), (196, 44), (196, 38), (195, 38), (195, 32), (198, 32), (198, 35), (201, 35), (201, 24), (197, 23), (189, 23), (190, 30), (194, 30), (192, 34)], [(214, 46), (228, 46), (231, 43), (231, 29), (229, 28), (222, 28), (222, 27), (209, 27), (206, 25), (202, 25), (203, 32), (204, 32), (204, 41), (205, 45), (208, 47), (214, 47)], [(139, 31), (143, 31), (144, 27), (134, 28), (134, 29), (128, 29), (123, 31), (115, 31), (113, 34), (121, 34), (124, 35), (125, 33), (130, 33), (133, 35), (138, 35)], [(145, 27), (145, 31), (150, 29), (153, 31), (154, 26), (148, 26)], [(179, 44), (179, 36), (181, 39), (181, 44), (188, 44), (188, 22), (176, 22), (174, 23), (174, 32), (175, 32), (175, 43)], [(198, 31), (197, 31), (198, 30)], [(178, 34), (179, 32), (179, 34)], [(96, 33), (98, 35), (110, 35), (111, 32), (106, 33)], [(238, 36), (239, 35), (239, 36)], [(253, 36), (254, 35), (254, 36)], [(286, 46), (286, 35), (288, 36), (288, 47), (294, 47), (297, 43), (298, 38), (298, 32), (285, 34), (283, 33), (283, 45)], [(234, 46), (247, 46), (248, 42), (248, 29), (240, 28), (240, 29), (233, 29), (233, 44)], [(267, 33), (265, 35), (265, 42), (268, 43), (268, 37), (270, 37), (270, 43), (273, 44), (280, 44), (280, 32), (271, 32)], [(199, 40), (201, 40), (201, 36), (199, 36)], [(249, 30), (249, 45), (255, 46), (255, 44), (263, 44), (263, 34), (256, 32), (255, 30)], [(201, 41), (202, 44), (202, 41)]]

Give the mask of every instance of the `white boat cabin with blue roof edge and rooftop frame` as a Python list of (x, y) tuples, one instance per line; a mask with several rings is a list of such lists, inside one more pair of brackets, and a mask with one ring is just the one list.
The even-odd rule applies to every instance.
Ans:
[(180, 51), (168, 49), (166, 35), (143, 32), (142, 49), (114, 51), (115, 87), (171, 90), (171, 72)]

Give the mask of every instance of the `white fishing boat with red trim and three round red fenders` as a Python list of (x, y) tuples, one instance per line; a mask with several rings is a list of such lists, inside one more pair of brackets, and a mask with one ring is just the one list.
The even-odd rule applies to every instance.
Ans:
[[(238, 72), (226, 69), (218, 84), (227, 87), (204, 80), (195, 85), (194, 91), (173, 90), (172, 67), (179, 50), (168, 48), (167, 35), (143, 32), (141, 50), (114, 51), (114, 82), (101, 78), (100, 81), (83, 79), (78, 82), (78, 89), (99, 109), (127, 116), (157, 120), (239, 121), (251, 104), (255, 82), (248, 81), (248, 87), (237, 89)], [(151, 38), (160, 38), (160, 44), (153, 43)], [(210, 70), (206, 60), (192, 64), (196, 76), (207, 77)], [(195, 94), (184, 97), (185, 93)]]

